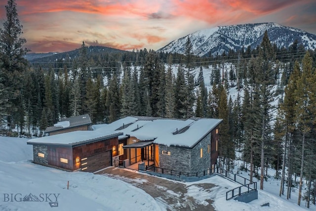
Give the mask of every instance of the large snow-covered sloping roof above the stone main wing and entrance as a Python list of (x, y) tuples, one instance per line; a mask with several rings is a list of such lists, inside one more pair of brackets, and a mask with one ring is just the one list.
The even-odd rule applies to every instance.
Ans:
[[(152, 117), (126, 117), (111, 124), (94, 125), (95, 131), (116, 130), (140, 141), (154, 140), (156, 144), (194, 147), (205, 135), (222, 122), (221, 119), (191, 118), (167, 119)], [(122, 127), (124, 123), (125, 127)]]

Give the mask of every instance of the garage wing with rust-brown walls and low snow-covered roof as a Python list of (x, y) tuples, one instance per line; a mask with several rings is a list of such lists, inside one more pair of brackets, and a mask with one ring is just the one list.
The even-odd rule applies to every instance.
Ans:
[(33, 161), (43, 166), (65, 170), (94, 172), (112, 166), (117, 156), (117, 131), (72, 131), (30, 139)]

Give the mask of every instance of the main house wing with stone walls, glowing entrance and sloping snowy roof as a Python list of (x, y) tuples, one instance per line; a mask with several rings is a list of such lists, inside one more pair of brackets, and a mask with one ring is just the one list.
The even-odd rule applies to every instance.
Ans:
[(167, 119), (130, 116), (95, 131), (118, 131), (118, 156), (124, 167), (144, 162), (160, 169), (197, 173), (215, 168), (221, 119)]

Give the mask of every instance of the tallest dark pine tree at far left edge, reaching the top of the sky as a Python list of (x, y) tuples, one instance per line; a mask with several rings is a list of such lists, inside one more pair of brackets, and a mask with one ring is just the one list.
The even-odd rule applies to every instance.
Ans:
[[(23, 47), (26, 40), (21, 38), (23, 26), (20, 24), (16, 6), (15, 0), (7, 1), (6, 20), (3, 22), (3, 29), (0, 29), (0, 78), (3, 86), (8, 88), (5, 90), (10, 96), (7, 105), (11, 105), (3, 107), (7, 109), (5, 114), (8, 124), (21, 122), (24, 118), (22, 73), (28, 66), (24, 55), (29, 49)], [(14, 125), (10, 128), (14, 128)]]

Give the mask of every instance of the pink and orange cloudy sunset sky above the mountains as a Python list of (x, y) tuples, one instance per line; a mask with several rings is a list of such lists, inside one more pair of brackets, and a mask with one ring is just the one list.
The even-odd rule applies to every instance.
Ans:
[[(16, 0), (26, 47), (154, 49), (195, 31), (275, 22), (316, 34), (315, 0)], [(0, 0), (0, 27), (7, 0)]]

